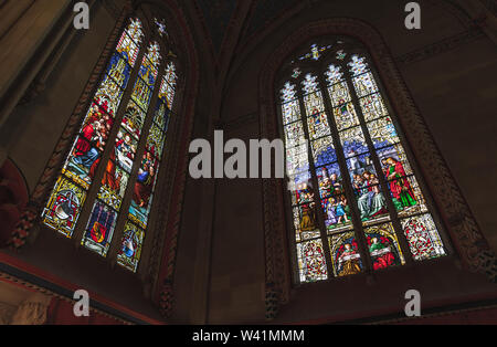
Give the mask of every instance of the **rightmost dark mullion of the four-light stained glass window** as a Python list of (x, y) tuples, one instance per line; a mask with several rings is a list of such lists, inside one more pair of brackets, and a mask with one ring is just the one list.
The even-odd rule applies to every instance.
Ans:
[[(369, 153), (371, 155), (371, 159), (373, 161), (374, 170), (377, 172), (379, 172), (378, 174), (378, 179), (380, 181), (380, 187), (381, 187), (381, 190), (383, 192), (383, 196), (384, 196), (384, 198), (387, 200), (387, 207), (389, 209), (390, 217), (391, 217), (391, 220), (392, 220), (392, 224), (393, 224), (393, 228), (395, 230), (396, 238), (399, 240), (399, 245), (400, 245), (400, 248), (402, 250), (402, 253), (405, 255), (404, 259), (405, 259), (406, 264), (412, 264), (414, 261), (413, 261), (413, 256), (412, 256), (412, 253), (411, 253), (411, 249), (409, 246), (409, 243), (408, 243), (406, 239), (403, 235), (402, 225), (401, 225), (401, 222), (400, 222), (400, 219), (399, 219), (399, 214), (398, 214), (395, 206), (393, 204), (393, 201), (392, 201), (392, 199), (390, 197), (390, 189), (389, 189), (389, 187), (387, 185), (387, 180), (384, 178), (384, 175), (380, 175), (381, 172), (383, 172), (383, 169), (381, 167), (380, 159), (379, 159), (377, 150), (374, 148), (374, 144), (373, 144), (372, 139), (371, 139), (371, 135), (369, 133), (368, 125), (366, 124), (366, 118), (364, 118), (364, 115), (362, 113), (362, 108), (361, 108), (361, 105), (360, 105), (360, 102), (359, 102), (359, 96), (357, 95), (357, 91), (356, 91), (356, 88), (353, 86), (353, 83), (352, 83), (352, 77), (350, 76), (350, 73), (347, 70), (347, 66), (343, 66), (343, 71), (346, 72), (345, 81), (347, 82), (348, 88), (350, 91), (350, 97), (351, 97), (352, 103), (353, 103), (353, 105), (356, 107), (356, 112), (357, 112), (357, 115), (358, 115), (358, 118), (359, 118), (360, 127), (361, 127), (362, 133), (364, 135), (366, 144), (368, 145), (368, 149), (369, 149)], [(377, 81), (377, 83), (378, 83), (378, 81)]]

